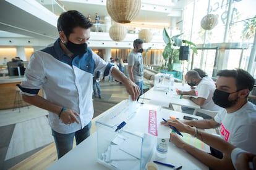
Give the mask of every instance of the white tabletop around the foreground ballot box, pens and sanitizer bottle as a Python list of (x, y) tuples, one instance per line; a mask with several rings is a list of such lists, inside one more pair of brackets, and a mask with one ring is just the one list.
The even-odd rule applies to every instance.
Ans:
[[(162, 108), (162, 110), (164, 110)], [(167, 110), (171, 116), (182, 119), (186, 113)], [(104, 113), (103, 113), (104, 114)], [(194, 118), (202, 119), (200, 116), (189, 115)], [(198, 161), (184, 150), (177, 148), (174, 144), (169, 142), (168, 155), (166, 158), (160, 159), (156, 156), (156, 148), (153, 148), (153, 155), (150, 161), (157, 160), (164, 163), (171, 163), (174, 166), (182, 166), (182, 169), (208, 169), (205, 164)], [(158, 167), (162, 170), (170, 169), (167, 166), (158, 164)], [(97, 140), (96, 132), (93, 133), (86, 140), (81, 142), (77, 147), (73, 148), (69, 153), (62, 156), (61, 159), (52, 164), (48, 169), (108, 169), (102, 164), (97, 162)]]

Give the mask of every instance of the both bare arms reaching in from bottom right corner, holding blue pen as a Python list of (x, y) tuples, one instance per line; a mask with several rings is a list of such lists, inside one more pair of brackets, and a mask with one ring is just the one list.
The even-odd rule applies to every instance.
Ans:
[[(171, 123), (162, 122), (162, 124), (168, 126), (169, 124), (173, 124), (179, 131), (186, 132), (191, 134), (197, 139), (202, 140), (205, 144), (214, 147), (221, 152), (224, 153), (222, 159), (215, 159), (215, 161), (211, 161), (208, 153), (202, 153), (200, 150), (197, 150), (193, 145), (187, 144), (184, 142), (177, 134), (171, 133), (170, 140), (179, 148), (186, 148), (186, 151), (190, 154), (194, 155), (198, 160), (202, 161), (202, 163), (209, 166), (211, 169), (255, 169), (256, 168), (256, 155), (253, 153), (248, 153), (242, 150), (241, 148), (236, 148), (234, 145), (229, 144), (225, 140), (220, 137), (208, 134), (204, 131), (199, 131), (195, 127), (187, 126), (179, 120), (169, 120)], [(231, 162), (232, 161), (232, 162)]]

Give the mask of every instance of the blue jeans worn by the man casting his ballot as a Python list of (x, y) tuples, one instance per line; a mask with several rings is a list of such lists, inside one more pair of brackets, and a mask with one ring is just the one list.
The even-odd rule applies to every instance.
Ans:
[(58, 153), (58, 159), (72, 150), (74, 137), (77, 145), (80, 144), (83, 140), (87, 139), (87, 137), (90, 136), (91, 126), (92, 122), (88, 123), (87, 126), (83, 127), (83, 129), (70, 134), (60, 134), (51, 129)]

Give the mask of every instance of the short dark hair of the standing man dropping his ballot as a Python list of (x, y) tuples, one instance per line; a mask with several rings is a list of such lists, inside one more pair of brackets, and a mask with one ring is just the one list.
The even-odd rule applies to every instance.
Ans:
[(63, 12), (58, 18), (58, 31), (64, 31), (64, 34), (69, 38), (69, 35), (73, 33), (73, 29), (77, 26), (88, 29), (92, 27), (92, 23), (77, 10), (68, 10)]

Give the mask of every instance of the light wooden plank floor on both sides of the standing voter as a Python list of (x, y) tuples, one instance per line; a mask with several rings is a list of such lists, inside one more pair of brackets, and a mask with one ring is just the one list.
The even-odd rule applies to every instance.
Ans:
[[(100, 117), (100, 114), (109, 108), (116, 105), (116, 103), (122, 100), (128, 99), (128, 94), (124, 85), (108, 81), (101, 81), (101, 99), (98, 97), (93, 97), (93, 105), (95, 108), (95, 115), (93, 116), (93, 125), (91, 133), (96, 131), (95, 119)], [(97, 117), (98, 116), (98, 117)], [(75, 147), (75, 142), (74, 142)], [(25, 158), (25, 160), (20, 163), (15, 164), (10, 169), (46, 169), (51, 164), (53, 164), (57, 159), (56, 147), (54, 142), (42, 148), (40, 151), (34, 153), (33, 155)]]

